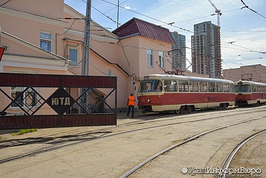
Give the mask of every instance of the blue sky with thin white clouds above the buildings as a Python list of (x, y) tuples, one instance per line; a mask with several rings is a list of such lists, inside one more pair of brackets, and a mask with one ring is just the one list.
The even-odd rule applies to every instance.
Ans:
[[(266, 66), (266, 1), (211, 0), (211, 2), (222, 13), (220, 15), (222, 69), (257, 64)], [(64, 3), (86, 15), (87, 0), (64, 0)], [(91, 0), (91, 6), (91, 19), (109, 31), (117, 28), (117, 21), (120, 26), (136, 17), (168, 28), (170, 32), (175, 31), (185, 35), (186, 58), (190, 62), (193, 25), (205, 21), (217, 25), (215, 8), (209, 0)], [(168, 25), (169, 23), (173, 24)], [(189, 69), (191, 70), (191, 67)]]

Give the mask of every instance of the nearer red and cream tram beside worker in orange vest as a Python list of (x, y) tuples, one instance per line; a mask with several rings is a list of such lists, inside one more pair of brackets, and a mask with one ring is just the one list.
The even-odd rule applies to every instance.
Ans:
[(183, 113), (235, 104), (234, 82), (180, 75), (143, 76), (137, 95), (138, 106), (143, 113)]

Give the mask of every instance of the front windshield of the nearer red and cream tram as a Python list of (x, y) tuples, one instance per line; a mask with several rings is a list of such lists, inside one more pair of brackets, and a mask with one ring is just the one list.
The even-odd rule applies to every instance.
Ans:
[(162, 82), (160, 80), (145, 80), (141, 81), (138, 92), (161, 92)]

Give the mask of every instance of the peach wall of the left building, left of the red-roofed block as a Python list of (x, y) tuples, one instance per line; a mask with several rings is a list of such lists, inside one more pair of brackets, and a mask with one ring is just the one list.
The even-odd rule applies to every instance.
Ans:
[[(46, 5), (48, 3), (48, 5)], [(22, 5), (23, 4), (23, 5)], [(3, 32), (13, 35), (16, 38), (24, 40), (14, 41), (9, 38), (2, 37), (2, 45), (8, 46), (8, 50), (5, 51), (3, 59), (0, 64), (0, 72), (19, 72), (19, 73), (38, 73), (38, 74), (69, 74), (80, 75), (82, 63), (77, 66), (69, 66), (69, 64), (63, 61), (65, 57), (69, 58), (69, 49), (78, 49), (78, 63), (82, 62), (83, 53), (83, 37), (84, 37), (84, 22), (82, 20), (58, 20), (56, 18), (63, 17), (84, 17), (77, 13), (75, 10), (71, 10), (70, 14), (63, 13), (63, 7), (67, 7), (63, 4), (63, 1), (13, 1), (7, 4), (5, 8), (0, 8), (0, 25)], [(29, 8), (30, 7), (30, 8)], [(42, 7), (42, 11), (40, 11)], [(10, 8), (10, 9), (7, 9)], [(11, 10), (12, 9), (12, 10)], [(38, 10), (36, 10), (38, 9)], [(21, 12), (18, 12), (18, 11)], [(48, 17), (48, 18), (47, 18)], [(71, 27), (71, 28), (70, 28)], [(92, 24), (92, 29), (101, 28), (99, 25)], [(18, 30), (19, 29), (19, 30)], [(91, 37), (91, 48), (98, 54), (103, 54), (106, 59), (94, 52), (90, 51), (89, 74), (106, 76), (108, 71), (112, 71), (112, 76), (117, 76), (117, 108), (127, 108), (126, 101), (127, 96), (130, 94), (131, 78), (122, 71), (117, 65), (111, 64), (118, 60), (117, 46), (109, 42), (117, 42), (118, 38), (102, 28), (103, 30), (95, 30)], [(48, 55), (48, 52), (40, 49), (40, 32), (51, 33), (51, 52), (54, 53)], [(96, 39), (96, 40), (94, 40)], [(28, 45), (27, 45), (28, 43)], [(32, 45), (33, 44), (33, 45)], [(58, 54), (58, 57), (57, 55)], [(108, 55), (109, 53), (109, 55)], [(112, 57), (110, 57), (112, 56)], [(59, 58), (59, 60), (55, 60)], [(108, 63), (105, 60), (110, 60)], [(94, 66), (93, 66), (93, 65)], [(68, 70), (69, 69), (69, 70)], [(48, 95), (53, 91), (50, 89), (40, 89), (41, 95)], [(108, 95), (110, 91), (102, 88), (97, 88), (99, 93)], [(125, 92), (129, 91), (129, 92)], [(73, 92), (79, 92), (78, 90), (72, 90)], [(8, 92), (9, 93), (9, 92)], [(74, 96), (77, 96), (73, 94)], [(115, 95), (107, 99), (107, 103), (111, 107), (115, 107)], [(6, 100), (5, 102), (10, 102)], [(7, 103), (5, 103), (7, 105)], [(2, 108), (3, 106), (1, 106)], [(0, 108), (0, 110), (1, 110)], [(39, 113), (45, 114), (53, 112), (46, 106), (40, 109)]]

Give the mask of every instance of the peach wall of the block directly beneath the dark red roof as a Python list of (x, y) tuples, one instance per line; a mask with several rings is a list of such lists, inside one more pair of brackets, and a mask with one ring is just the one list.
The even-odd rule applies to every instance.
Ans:
[[(156, 64), (159, 60), (159, 51), (163, 51), (164, 55), (170, 51), (171, 44), (159, 42), (142, 36), (133, 36), (121, 39), (123, 48), (119, 48), (119, 65), (130, 75), (136, 74), (137, 78), (148, 74), (161, 74), (164, 71)], [(153, 67), (147, 66), (147, 49), (153, 50)], [(171, 64), (165, 58), (166, 68), (164, 70), (171, 71)]]

